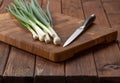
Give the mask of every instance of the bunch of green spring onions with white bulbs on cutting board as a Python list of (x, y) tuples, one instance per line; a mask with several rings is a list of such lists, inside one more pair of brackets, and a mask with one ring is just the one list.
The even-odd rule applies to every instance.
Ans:
[(61, 44), (61, 39), (53, 29), (52, 18), (49, 11), (49, 1), (46, 12), (42, 10), (37, 0), (14, 0), (8, 6), (9, 12), (28, 29), (34, 39), (55, 45)]

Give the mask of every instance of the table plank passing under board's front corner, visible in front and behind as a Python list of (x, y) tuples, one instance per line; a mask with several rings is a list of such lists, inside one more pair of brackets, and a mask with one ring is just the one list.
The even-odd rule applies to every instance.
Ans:
[[(43, 0), (45, 9), (47, 0)], [(61, 13), (61, 0), (50, 0), (50, 10)], [(41, 57), (36, 57), (35, 83), (64, 83), (64, 63), (53, 63)]]

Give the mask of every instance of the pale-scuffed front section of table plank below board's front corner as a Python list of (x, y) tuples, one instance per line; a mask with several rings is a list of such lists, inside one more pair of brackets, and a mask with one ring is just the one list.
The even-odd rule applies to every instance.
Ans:
[(36, 57), (35, 83), (64, 83), (64, 63), (53, 63)]

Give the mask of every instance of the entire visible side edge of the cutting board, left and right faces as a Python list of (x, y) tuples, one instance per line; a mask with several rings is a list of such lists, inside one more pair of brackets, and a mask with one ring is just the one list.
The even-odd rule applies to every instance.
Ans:
[[(98, 37), (98, 39), (96, 39), (96, 41), (94, 41), (94, 43), (93, 43), (94, 45), (91, 44), (91, 46), (86, 47), (86, 48), (88, 49), (88, 48), (93, 47), (93, 46), (98, 45), (98, 44), (112, 42), (112, 41), (114, 41), (114, 40), (117, 39), (117, 34), (118, 34), (118, 32), (115, 30), (115, 31), (112, 31), (112, 32), (109, 33), (109, 34), (106, 34), (106, 35), (102, 36), (102, 37), (104, 37), (104, 38)], [(1, 36), (1, 35), (0, 35), (0, 36)], [(110, 38), (111, 38), (111, 39), (110, 39)], [(102, 41), (99, 41), (99, 40), (101, 40), (101, 39), (103, 39), (103, 40), (102, 40)], [(109, 40), (109, 41), (108, 41), (108, 40)], [(6, 40), (5, 40), (4, 38), (3, 38), (3, 39), (0, 39), (0, 41), (5, 42), (5, 43), (7, 43), (7, 44), (10, 44), (10, 45), (12, 45), (12, 46), (14, 46), (14, 47), (17, 47), (15, 44), (12, 44), (12, 43), (10, 43), (10, 42), (6, 42)], [(14, 40), (13, 40), (13, 41), (14, 41)], [(97, 41), (99, 41), (99, 43), (98, 43)], [(93, 42), (93, 41), (92, 41), (92, 42)], [(95, 42), (96, 42), (96, 43), (95, 43)], [(87, 43), (90, 43), (90, 42), (87, 42)], [(66, 60), (66, 59), (69, 59), (69, 58), (73, 57), (76, 53), (85, 50), (86, 48), (84, 48), (84, 49), (79, 49), (79, 48), (81, 48), (81, 47), (84, 47), (84, 45), (85, 45), (85, 44), (83, 44), (83, 46), (82, 46), (82, 45), (76, 46), (76, 47), (74, 48), (74, 50), (76, 50), (76, 49), (78, 49), (78, 50), (75, 51), (75, 52), (72, 52), (72, 53), (69, 52), (69, 51), (72, 51), (72, 50), (73, 50), (72, 48), (70, 48), (70, 49), (66, 49), (66, 50), (64, 50), (64, 51), (59, 51), (59, 52), (48, 52), (48, 55), (44, 55), (44, 56), (42, 55), (42, 53), (41, 53), (41, 55), (39, 55), (39, 54), (37, 54), (37, 53), (35, 53), (35, 52), (33, 52), (32, 54), (35, 54), (35, 55), (38, 55), (38, 56), (40, 56), (40, 57), (46, 58), (46, 59), (48, 59), (48, 60), (50, 60), (50, 61), (53, 61), (53, 62), (62, 62), (62, 61), (64, 61), (64, 60)], [(79, 48), (78, 48), (78, 47), (79, 47)], [(22, 47), (17, 47), (17, 48), (23, 49), (24, 51), (28, 51), (28, 52), (31, 53), (30, 50), (27, 50), (27, 49), (25, 49), (25, 48), (22, 48)], [(68, 56), (69, 56), (69, 57), (68, 57)]]

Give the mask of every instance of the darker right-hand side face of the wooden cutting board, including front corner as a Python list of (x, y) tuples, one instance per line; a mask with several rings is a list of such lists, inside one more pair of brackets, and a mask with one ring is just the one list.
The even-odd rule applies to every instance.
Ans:
[[(102, 36), (102, 37), (99, 37), (97, 40), (95, 41), (92, 41), (94, 42), (91, 46), (89, 47), (86, 47), (84, 49), (79, 49), (73, 53), (71, 52), (68, 52), (68, 51), (72, 51), (72, 48), (71, 49), (68, 49), (64, 52), (54, 52), (54, 53), (50, 53), (50, 57), (49, 57), (49, 60), (53, 61), (53, 62), (62, 62), (64, 60), (67, 60), (73, 56), (75, 56), (76, 53), (78, 52), (81, 52), (83, 50), (87, 50), (91, 47), (94, 47), (96, 45), (101, 45), (101, 44), (106, 44), (106, 43), (110, 43), (110, 42), (114, 42), (117, 40), (117, 36), (118, 36), (118, 32), (116, 30), (114, 30), (113, 32), (109, 33), (109, 34), (106, 34), (105, 36)], [(104, 38), (103, 38), (104, 37)], [(103, 39), (103, 40), (102, 40)], [(108, 40), (109, 39), (109, 40)], [(90, 43), (90, 42), (87, 42), (87, 43)], [(86, 44), (85, 44), (86, 45)], [(83, 45), (84, 46), (84, 45)], [(74, 50), (78, 49), (78, 47), (83, 47), (82, 45), (81, 46), (77, 46)], [(69, 57), (68, 57), (69, 56)]]

